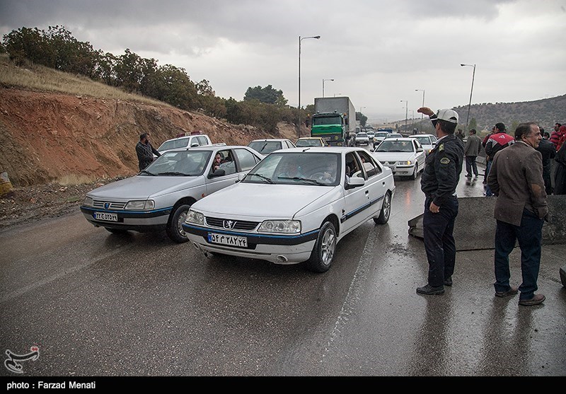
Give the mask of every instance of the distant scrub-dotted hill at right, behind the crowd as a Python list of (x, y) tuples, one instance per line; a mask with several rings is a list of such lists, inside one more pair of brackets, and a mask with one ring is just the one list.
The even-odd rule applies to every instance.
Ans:
[[(460, 122), (466, 123), (468, 105), (454, 108)], [(470, 120), (475, 118), (478, 129), (491, 129), (497, 122), (509, 128), (522, 122), (537, 122), (545, 131), (552, 132), (556, 122), (566, 123), (566, 94), (522, 103), (483, 103), (470, 106)]]

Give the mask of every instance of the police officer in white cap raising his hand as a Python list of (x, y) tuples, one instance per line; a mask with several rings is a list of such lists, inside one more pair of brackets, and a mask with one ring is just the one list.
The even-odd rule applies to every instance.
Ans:
[(418, 294), (444, 294), (444, 285), (452, 286), (456, 262), (454, 221), (458, 215), (456, 186), (460, 180), (464, 156), (461, 139), (454, 135), (458, 112), (430, 108), (417, 110), (428, 115), (437, 132), (437, 145), (430, 151), (420, 180), (424, 193), (424, 249), (429, 262), (428, 283), (418, 287)]

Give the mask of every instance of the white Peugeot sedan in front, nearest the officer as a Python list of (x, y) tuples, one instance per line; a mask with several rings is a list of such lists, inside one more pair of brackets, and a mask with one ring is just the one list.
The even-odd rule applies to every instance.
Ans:
[(393, 174), (355, 147), (270, 153), (236, 185), (192, 204), (183, 229), (204, 255), (330, 268), (336, 245), (373, 219), (386, 224)]

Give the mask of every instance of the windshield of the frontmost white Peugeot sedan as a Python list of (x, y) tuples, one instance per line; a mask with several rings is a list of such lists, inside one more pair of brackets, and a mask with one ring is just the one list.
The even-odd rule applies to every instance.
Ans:
[(339, 153), (271, 153), (255, 166), (244, 183), (334, 186), (340, 182)]

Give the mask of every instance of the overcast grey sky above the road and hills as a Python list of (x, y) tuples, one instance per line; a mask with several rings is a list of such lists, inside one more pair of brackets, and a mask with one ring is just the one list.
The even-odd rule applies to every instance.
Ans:
[[(289, 105), (347, 95), (370, 120), (566, 93), (566, 0), (0, 0), (0, 34), (62, 25), (223, 98), (272, 85)], [(460, 64), (472, 66), (460, 66)], [(323, 79), (334, 79), (324, 81)], [(415, 91), (420, 89), (420, 91)], [(465, 114), (460, 114), (461, 119)]]

